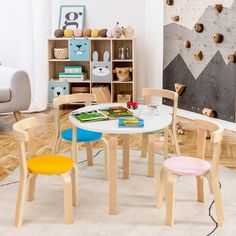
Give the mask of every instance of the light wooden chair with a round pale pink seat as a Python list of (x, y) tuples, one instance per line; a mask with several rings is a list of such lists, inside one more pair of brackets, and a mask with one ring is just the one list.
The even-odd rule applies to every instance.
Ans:
[[(206, 177), (209, 181), (210, 192), (214, 195), (218, 224), (223, 226), (224, 212), (219, 185), (218, 161), (224, 128), (203, 120), (194, 121), (194, 126), (197, 128), (197, 158), (181, 156), (163, 162), (158, 174), (157, 207), (162, 207), (164, 187), (166, 187), (166, 224), (172, 226), (174, 224), (174, 191), (178, 177), (196, 177), (199, 202), (204, 202), (203, 177)], [(211, 133), (212, 164), (204, 160), (207, 132)], [(166, 180), (164, 176), (166, 176)]]

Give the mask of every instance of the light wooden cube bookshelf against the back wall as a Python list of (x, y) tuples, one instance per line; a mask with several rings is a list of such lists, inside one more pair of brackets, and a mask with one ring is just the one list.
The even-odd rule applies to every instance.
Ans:
[[(77, 40), (81, 40), (78, 38)], [(48, 39), (48, 79), (59, 81), (59, 73), (64, 71), (65, 66), (81, 66), (83, 72), (87, 73), (87, 79), (84, 81), (69, 80), (69, 91), (76, 91), (73, 87), (88, 87), (86, 91), (95, 93), (98, 103), (117, 102), (118, 94), (128, 94), (131, 100), (136, 99), (135, 82), (135, 45), (133, 38), (88, 38), (90, 48), (90, 58), (87, 61), (75, 61), (70, 59), (56, 59), (54, 57), (54, 48), (67, 48), (70, 53), (70, 38), (50, 38)], [(121, 48), (125, 48), (125, 58), (120, 58)], [(127, 50), (128, 48), (128, 50)], [(93, 79), (93, 53), (98, 52), (98, 62), (104, 60), (104, 52), (109, 52), (110, 75), (106, 81)], [(127, 53), (128, 51), (128, 53)], [(70, 57), (69, 57), (70, 58)], [(124, 70), (132, 68), (132, 70)], [(129, 74), (130, 80), (120, 80), (117, 72)], [(123, 73), (123, 72), (122, 72)], [(99, 90), (101, 88), (101, 90)], [(84, 91), (85, 91), (84, 90)], [(81, 91), (78, 89), (78, 91)], [(83, 89), (82, 89), (83, 91)]]

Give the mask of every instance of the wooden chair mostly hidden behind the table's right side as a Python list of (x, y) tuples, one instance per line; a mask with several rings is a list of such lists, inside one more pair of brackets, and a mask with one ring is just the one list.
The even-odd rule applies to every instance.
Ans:
[[(177, 105), (178, 105), (178, 94), (176, 92), (166, 90), (166, 89), (144, 88), (142, 90), (142, 96), (144, 96), (145, 105), (151, 105), (152, 97), (162, 97), (162, 98), (170, 99), (173, 101), (173, 111), (172, 111), (172, 123), (168, 127), (167, 132), (165, 132), (165, 130), (157, 130), (156, 132), (143, 134), (141, 157), (146, 158), (148, 144), (149, 144), (149, 150), (154, 151), (154, 147), (152, 147), (154, 145), (154, 142), (149, 142), (149, 136), (156, 134), (156, 133), (162, 133), (162, 132), (165, 133), (165, 141), (166, 142), (168, 142), (168, 135), (170, 135), (171, 142), (175, 146), (175, 152), (176, 152), (177, 156), (179, 156), (180, 150), (179, 150), (179, 144), (178, 144), (178, 139), (177, 139), (177, 135), (176, 135), (176, 113), (177, 113)], [(166, 153), (165, 153), (166, 158), (167, 158), (167, 152), (168, 152), (168, 150), (166, 150)], [(150, 159), (151, 156), (152, 155), (148, 155), (148, 158)], [(148, 166), (148, 176), (153, 177), (154, 176), (154, 162), (149, 160), (148, 165), (149, 165)]]

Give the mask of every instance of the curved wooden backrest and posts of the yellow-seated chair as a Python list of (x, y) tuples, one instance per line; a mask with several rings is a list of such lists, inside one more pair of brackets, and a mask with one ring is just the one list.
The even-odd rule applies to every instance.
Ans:
[[(36, 117), (20, 120), (13, 125), (13, 130), (16, 132), (16, 138), (20, 141), (21, 171), (27, 171), (27, 159), (30, 159), (36, 155), (34, 128), (38, 125), (39, 122)], [(26, 155), (26, 150), (28, 150), (28, 158)]]

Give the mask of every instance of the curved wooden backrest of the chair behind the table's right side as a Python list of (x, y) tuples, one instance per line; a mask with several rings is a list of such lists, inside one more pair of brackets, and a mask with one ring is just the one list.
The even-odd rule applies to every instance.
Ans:
[(176, 114), (178, 106), (179, 95), (171, 90), (159, 89), (159, 88), (144, 88), (142, 90), (142, 96), (144, 96), (145, 105), (150, 105), (152, 102), (152, 97), (162, 97), (173, 101), (173, 111), (172, 111), (172, 129), (176, 126)]

